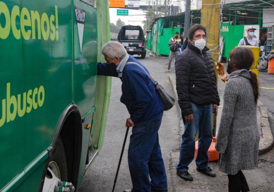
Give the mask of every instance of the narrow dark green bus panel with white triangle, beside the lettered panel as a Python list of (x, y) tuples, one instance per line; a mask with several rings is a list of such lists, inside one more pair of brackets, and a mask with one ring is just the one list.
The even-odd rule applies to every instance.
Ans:
[(74, 0), (73, 5), (73, 102), (82, 117), (82, 151), (78, 183), (84, 176), (95, 111), (97, 74), (97, 20), (94, 1)]

